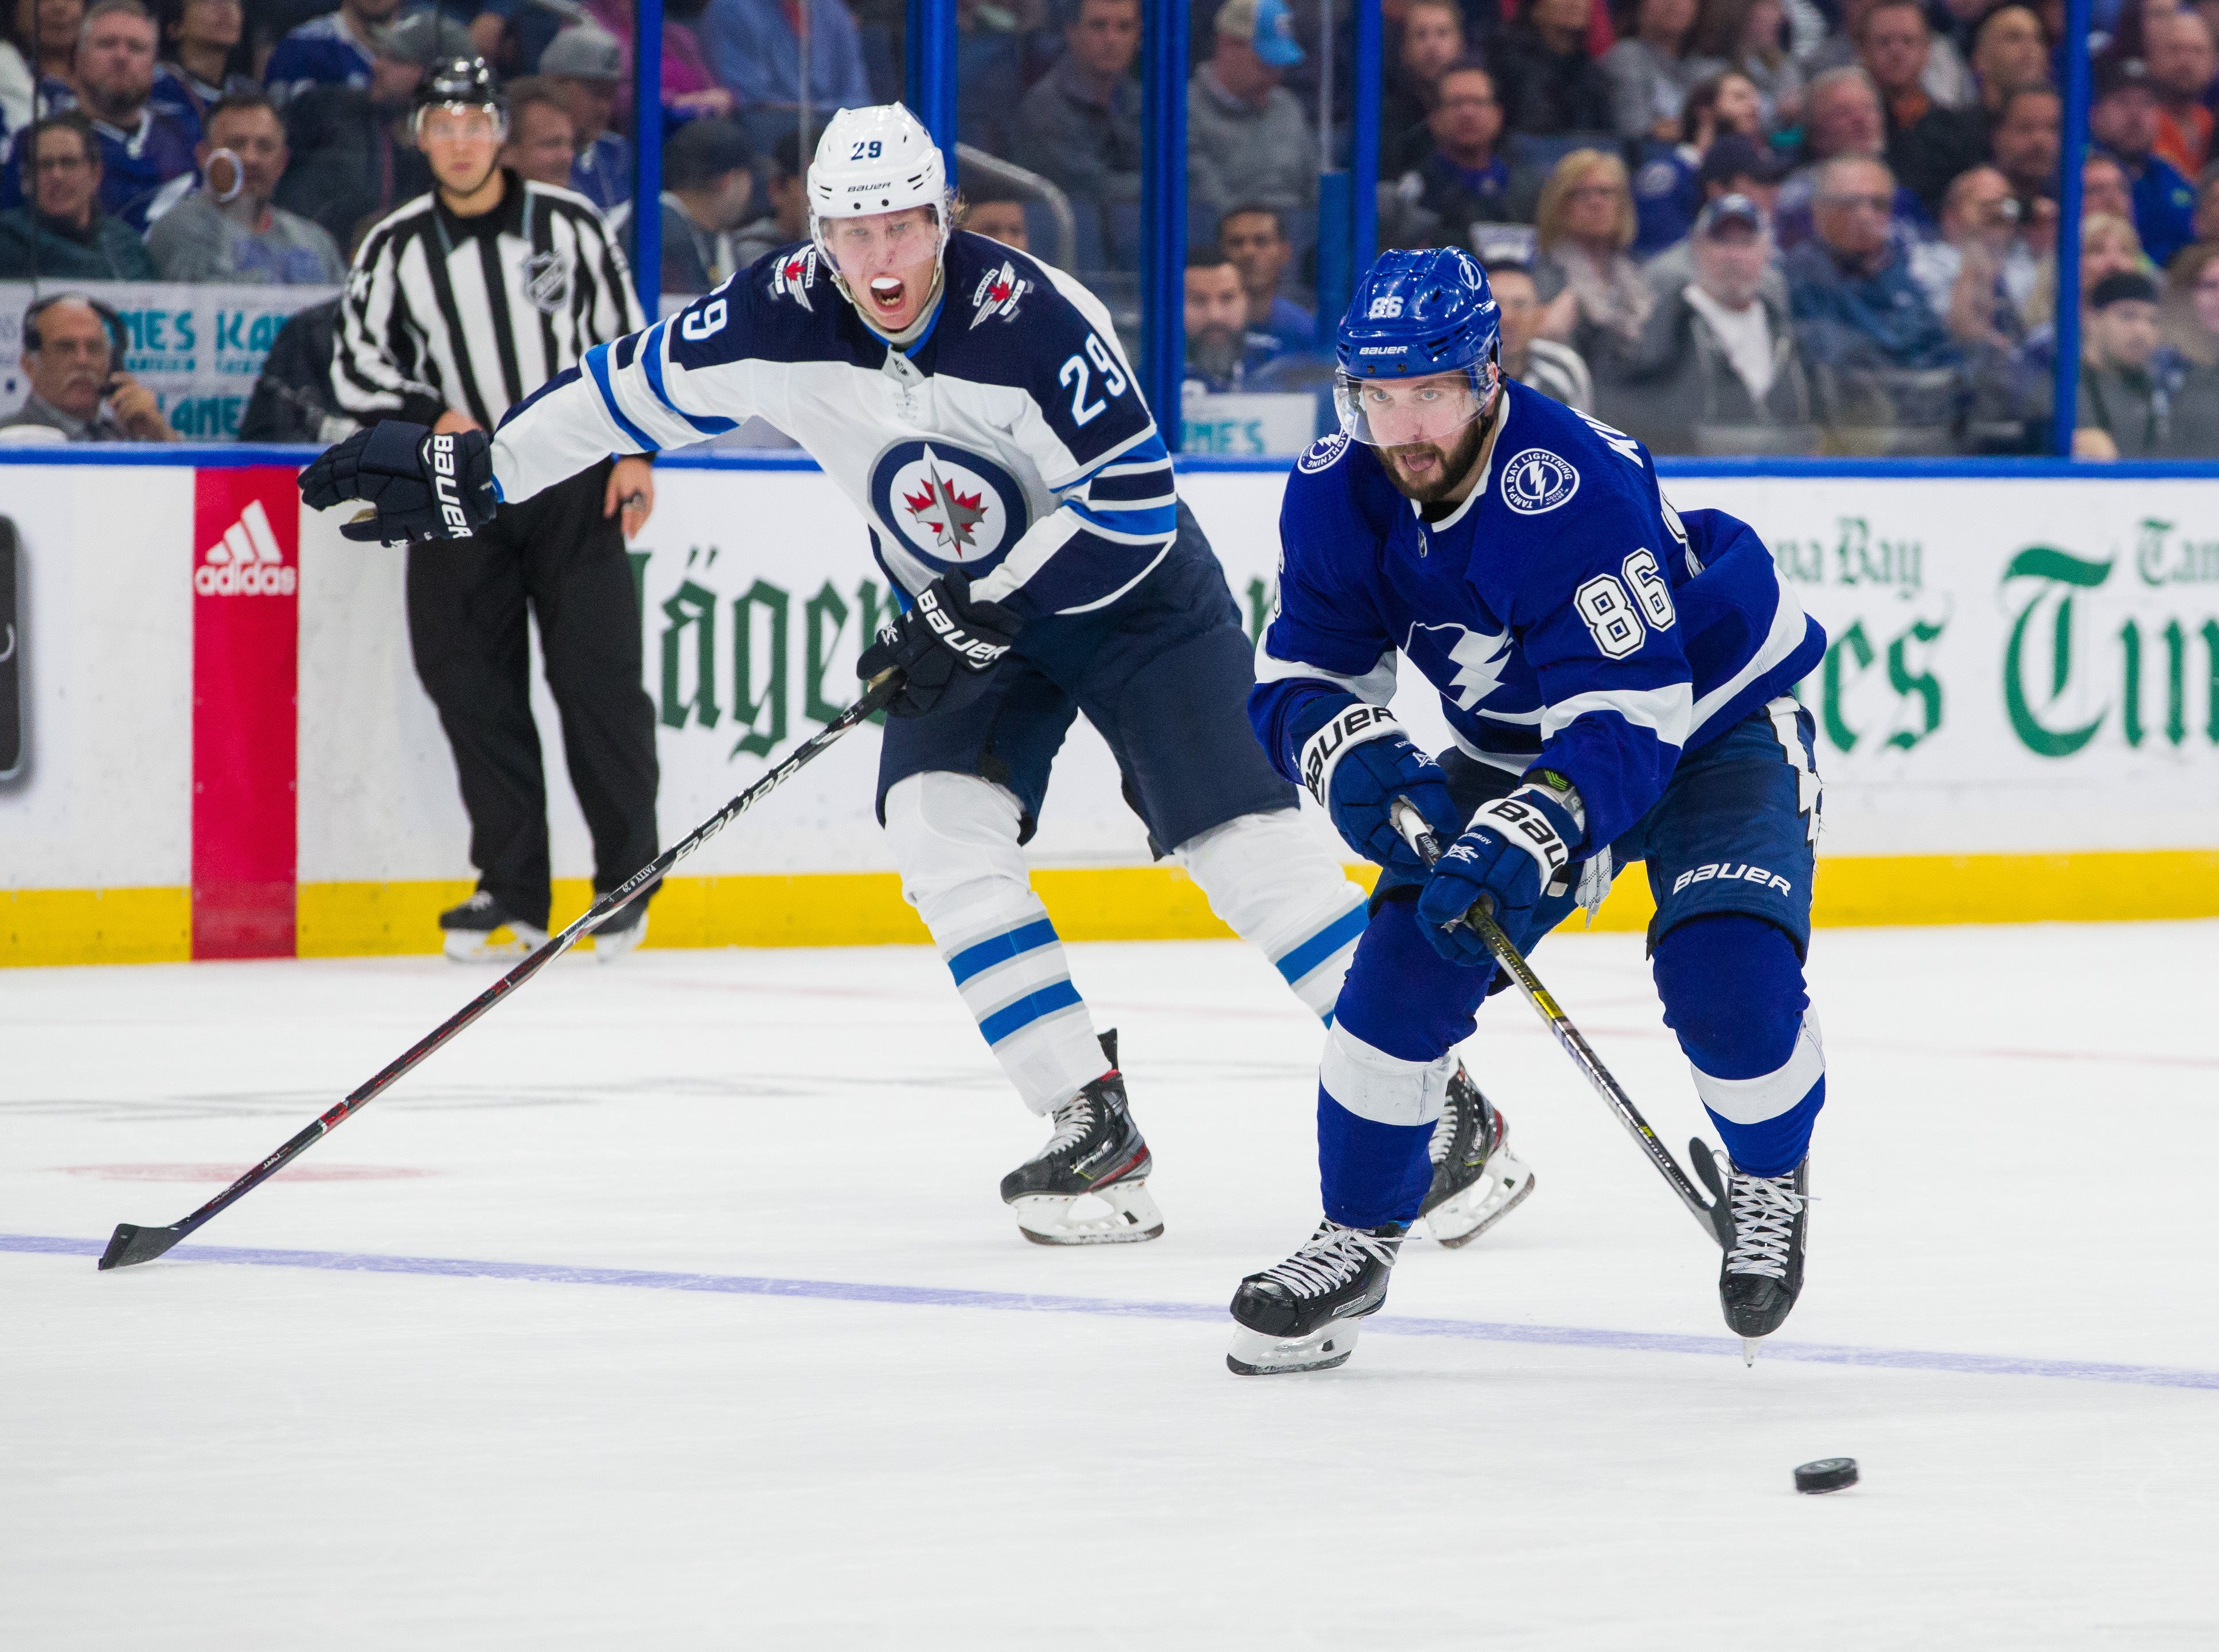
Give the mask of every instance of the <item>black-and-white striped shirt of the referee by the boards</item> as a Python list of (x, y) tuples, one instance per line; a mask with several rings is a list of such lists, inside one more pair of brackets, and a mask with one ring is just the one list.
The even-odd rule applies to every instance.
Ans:
[(493, 430), (595, 344), (646, 326), (592, 202), (506, 177), (490, 213), (455, 217), (433, 191), (362, 242), (331, 361), (346, 412), (435, 424), (453, 408)]

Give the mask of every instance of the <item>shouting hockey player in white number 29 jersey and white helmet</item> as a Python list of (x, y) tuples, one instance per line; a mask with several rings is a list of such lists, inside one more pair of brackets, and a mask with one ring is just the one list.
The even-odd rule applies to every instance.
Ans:
[[(905, 679), (877, 798), (903, 894), (1010, 1082), (1052, 1120), (1003, 1200), (1041, 1244), (1152, 1240), (1163, 1217), (1114, 1036), (1096, 1036), (1023, 856), (1072, 718), (1116, 754), (1149, 847), (1325, 1020), (1365, 898), (1247, 727), (1238, 610), (1101, 302), (954, 233), (941, 153), (899, 104), (834, 115), (808, 193), (808, 244), (588, 353), (490, 448), (386, 424), (302, 490), (320, 508), (373, 499), (362, 539), (448, 537), (610, 452), (754, 415), (808, 448), (908, 599), (859, 665)], [(446, 499), (442, 463), (459, 479)], [(1462, 1071), (1449, 1100), (1427, 1215), (1456, 1242), (1531, 1175)]]

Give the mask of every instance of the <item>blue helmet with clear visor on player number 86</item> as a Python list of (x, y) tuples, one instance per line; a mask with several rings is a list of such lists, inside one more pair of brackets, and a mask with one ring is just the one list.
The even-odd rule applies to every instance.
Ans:
[[(1340, 428), (1374, 448), (1453, 435), (1480, 415), (1493, 392), (1500, 337), (1502, 310), (1471, 253), (1456, 246), (1380, 253), (1356, 284), (1334, 337)], [(1409, 408), (1389, 421), (1394, 428), (1374, 430), (1374, 404), (1407, 401), (1387, 384), (1445, 373), (1460, 373), (1465, 386), (1449, 392), (1436, 388), (1422, 415)]]

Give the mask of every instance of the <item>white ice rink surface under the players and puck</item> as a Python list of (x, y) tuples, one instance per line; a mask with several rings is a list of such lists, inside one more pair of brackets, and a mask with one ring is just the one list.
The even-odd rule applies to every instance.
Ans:
[[(1043, 1131), (932, 954), (650, 951), (200, 1235), (255, 1262), (109, 1275), (484, 976), (7, 973), (0, 1231), (82, 1253), (0, 1242), (0, 1645), (2219, 1645), (2219, 925), (1822, 931), (1811, 1282), (1755, 1370), (1504, 996), (1467, 1060), (1533, 1197), (1414, 1242), (1347, 1368), (1232, 1377), (1225, 1299), (1316, 1220), (1320, 1033), (1234, 942), (1072, 956), (1156, 1244), (1019, 1237)], [(1536, 965), (1678, 1151), (1640, 940)], [(1797, 1497), (1833, 1455), (1864, 1483)]]

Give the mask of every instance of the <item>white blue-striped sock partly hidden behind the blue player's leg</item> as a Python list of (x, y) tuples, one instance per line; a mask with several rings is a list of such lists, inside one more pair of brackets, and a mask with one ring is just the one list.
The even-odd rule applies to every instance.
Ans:
[(1243, 814), (1178, 845), (1209, 909), (1327, 1024), (1365, 934), (1365, 891), (1300, 809)]

